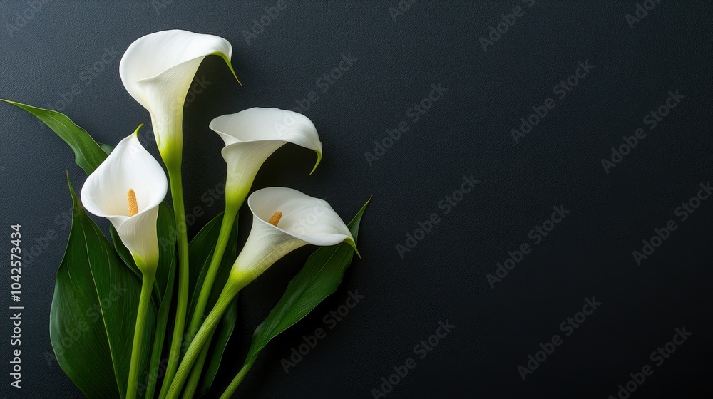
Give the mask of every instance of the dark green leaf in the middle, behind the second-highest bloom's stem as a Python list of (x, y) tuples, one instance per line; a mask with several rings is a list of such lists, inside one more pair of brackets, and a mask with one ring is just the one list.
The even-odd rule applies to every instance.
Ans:
[[(188, 254), (190, 256), (189, 262), (193, 271), (193, 274), (189, 277), (190, 285), (193, 291), (190, 301), (188, 302), (189, 316), (186, 320), (188, 323), (190, 323), (190, 318), (193, 316), (193, 309), (195, 309), (195, 304), (198, 302), (200, 289), (203, 286), (205, 274), (207, 273), (208, 266), (210, 266), (210, 261), (213, 257), (215, 244), (217, 244), (218, 235), (220, 234), (222, 217), (223, 213), (221, 212), (210, 222), (208, 222), (205, 227), (200, 229), (200, 232), (198, 232), (193, 240), (191, 240), (190, 244), (188, 244)], [(207, 305), (205, 306), (206, 313), (210, 312), (210, 309), (212, 309), (215, 305), (218, 296), (220, 296), (220, 291), (222, 291), (222, 287), (225, 286), (225, 282), (230, 275), (230, 268), (237, 258), (237, 217), (232, 225), (232, 232), (230, 232), (230, 238), (227, 242), (228, 244), (227, 247), (225, 247), (222, 262), (220, 263), (218, 272), (215, 275), (213, 289), (208, 297)], [(233, 309), (233, 307), (235, 307), (235, 309)], [(206, 372), (203, 374), (200, 382), (199, 393), (203, 390), (207, 391), (210, 389), (210, 385), (212, 385), (212, 382), (215, 379), (215, 372), (217, 372), (217, 369), (220, 366), (222, 353), (225, 351), (227, 341), (230, 340), (230, 337), (235, 330), (236, 323), (237, 300), (235, 301), (235, 304), (232, 304), (227, 309), (222, 318), (220, 318), (220, 325), (222, 327), (216, 331), (215, 336), (213, 337), (209, 357), (207, 358), (205, 365)]]

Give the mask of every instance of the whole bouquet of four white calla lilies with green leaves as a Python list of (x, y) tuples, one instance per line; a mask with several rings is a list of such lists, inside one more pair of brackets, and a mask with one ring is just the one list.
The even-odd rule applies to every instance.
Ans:
[[(210, 55), (222, 57), (235, 76), (228, 41), (188, 31), (143, 36), (121, 58), (121, 81), (148, 110), (165, 170), (141, 145), (140, 125), (111, 147), (66, 115), (5, 100), (46, 123), (88, 174), (81, 201), (69, 185), (73, 221), (50, 316), (56, 360), (88, 398), (219, 397), (213, 382), (220, 366), (240, 366), (223, 361), (240, 290), (288, 252), (322, 247), (257, 327), (245, 363), (220, 395), (230, 398), (262, 348), (336, 291), (356, 252), (366, 204), (345, 224), (327, 202), (297, 190), (250, 194), (262, 163), (288, 142), (317, 152), (315, 169), (322, 159), (312, 121), (277, 108), (212, 120), (210, 129), (225, 142), (225, 211), (188, 241), (183, 108), (198, 66)], [(173, 209), (165, 202), (168, 190)], [(252, 229), (238, 251), (236, 219), (245, 199)], [(108, 219), (111, 242), (85, 210)]]

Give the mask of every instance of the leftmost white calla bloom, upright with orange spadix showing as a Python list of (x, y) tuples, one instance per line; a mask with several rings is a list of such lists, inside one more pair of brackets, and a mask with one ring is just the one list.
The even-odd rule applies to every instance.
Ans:
[(136, 265), (146, 272), (158, 264), (156, 218), (168, 181), (137, 133), (121, 140), (89, 175), (81, 199), (88, 212), (109, 219)]

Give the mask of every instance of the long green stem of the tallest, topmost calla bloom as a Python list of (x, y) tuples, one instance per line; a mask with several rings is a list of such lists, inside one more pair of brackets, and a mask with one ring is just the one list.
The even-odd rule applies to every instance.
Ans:
[(173, 340), (168, 354), (168, 366), (159, 398), (165, 398), (166, 392), (173, 381), (173, 376), (180, 360), (185, 316), (188, 309), (188, 237), (185, 225), (185, 209), (183, 207), (183, 182), (181, 180), (180, 162), (177, 166), (167, 165), (168, 179), (173, 198), (173, 213), (175, 214), (176, 231), (178, 232), (178, 301), (176, 304), (176, 321), (173, 326)]

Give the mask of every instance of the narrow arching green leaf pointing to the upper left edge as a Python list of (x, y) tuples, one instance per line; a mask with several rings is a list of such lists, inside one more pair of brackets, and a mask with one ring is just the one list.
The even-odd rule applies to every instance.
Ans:
[(84, 172), (89, 175), (96, 167), (106, 159), (106, 152), (91, 138), (91, 136), (79, 126), (75, 125), (71, 119), (63, 113), (44, 108), (36, 108), (31, 105), (16, 103), (9, 100), (1, 100), (6, 103), (22, 108), (35, 115), (54, 133), (64, 140), (74, 150), (74, 160)]

